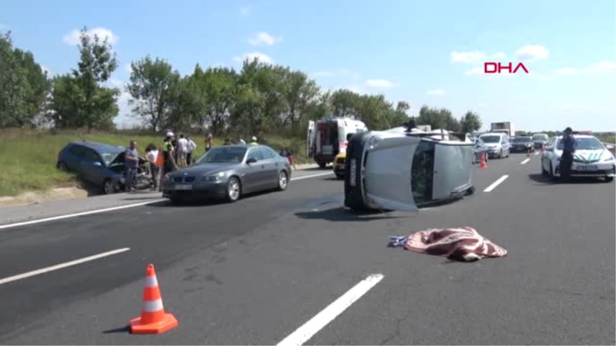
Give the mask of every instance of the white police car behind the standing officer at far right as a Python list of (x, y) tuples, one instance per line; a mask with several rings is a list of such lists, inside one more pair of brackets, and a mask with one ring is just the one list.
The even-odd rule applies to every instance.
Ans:
[[(545, 151), (541, 153), (541, 174), (556, 179), (560, 177), (559, 162), (561, 160), (563, 132), (557, 132), (549, 140)], [(616, 176), (616, 159), (610, 153), (612, 145), (604, 145), (591, 132), (573, 132), (577, 148), (573, 153), (572, 177), (597, 177), (606, 182), (614, 181)]]

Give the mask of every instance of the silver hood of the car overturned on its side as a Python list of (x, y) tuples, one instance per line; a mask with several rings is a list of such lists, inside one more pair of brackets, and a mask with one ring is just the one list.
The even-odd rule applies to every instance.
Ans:
[(383, 209), (416, 211), (411, 168), (421, 139), (397, 134), (383, 134), (380, 138), (373, 148), (368, 148), (364, 171), (367, 198)]

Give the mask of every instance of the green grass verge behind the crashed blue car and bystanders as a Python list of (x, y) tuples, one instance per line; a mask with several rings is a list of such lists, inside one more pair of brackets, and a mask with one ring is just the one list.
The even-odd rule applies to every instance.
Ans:
[[(0, 131), (0, 196), (17, 196), (25, 191), (45, 191), (54, 187), (73, 187), (78, 185), (76, 178), (56, 169), (58, 153), (68, 142), (73, 140), (90, 140), (108, 143), (110, 145), (128, 146), (130, 140), (137, 140), (140, 155), (149, 143), (156, 146), (162, 144), (160, 136), (60, 131), (55, 134), (49, 131), (1, 130)], [(203, 137), (194, 135), (197, 143), (197, 153), (203, 153)], [(298, 140), (280, 137), (265, 137), (263, 143), (275, 150), (282, 147), (293, 148), (296, 163), (310, 162), (304, 155), (302, 143)], [(221, 145), (222, 139), (214, 141)], [(197, 157), (195, 156), (195, 157)]]

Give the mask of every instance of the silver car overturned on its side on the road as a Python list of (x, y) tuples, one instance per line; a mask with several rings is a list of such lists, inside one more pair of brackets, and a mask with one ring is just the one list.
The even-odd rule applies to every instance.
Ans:
[(400, 210), (474, 192), (468, 135), (397, 127), (355, 134), (347, 147), (344, 205), (354, 211)]

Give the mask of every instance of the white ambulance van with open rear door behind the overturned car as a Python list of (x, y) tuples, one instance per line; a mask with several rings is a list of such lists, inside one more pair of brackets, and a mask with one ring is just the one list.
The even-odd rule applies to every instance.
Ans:
[(346, 153), (347, 135), (367, 132), (368, 127), (354, 118), (336, 116), (308, 122), (306, 156), (314, 158), (318, 166), (325, 168), (333, 163), (338, 153)]

